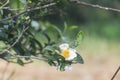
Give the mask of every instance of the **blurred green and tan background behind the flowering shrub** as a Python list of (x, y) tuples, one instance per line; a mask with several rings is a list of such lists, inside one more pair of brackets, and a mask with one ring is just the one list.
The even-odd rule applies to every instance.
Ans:
[[(13, 0), (14, 1), (14, 0)], [(119, 0), (80, 0), (120, 9)], [(21, 67), (0, 60), (1, 80), (110, 80), (120, 66), (120, 13), (83, 5), (67, 4), (61, 11), (42, 18), (60, 29), (64, 22), (77, 25), (85, 33), (77, 47), (84, 64), (74, 64), (71, 71), (60, 72), (43, 61)], [(74, 33), (74, 32), (73, 32)], [(71, 35), (72, 32), (67, 32)], [(2, 46), (2, 44), (0, 45)], [(120, 72), (115, 77), (120, 80)]]

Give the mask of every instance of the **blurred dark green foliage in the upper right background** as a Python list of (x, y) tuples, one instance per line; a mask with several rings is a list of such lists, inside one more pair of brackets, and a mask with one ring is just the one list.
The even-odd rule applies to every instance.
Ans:
[[(120, 9), (119, 0), (79, 0), (91, 4)], [(68, 25), (79, 25), (86, 33), (107, 40), (120, 40), (120, 14), (118, 12), (101, 10), (89, 6), (67, 4), (60, 13), (45, 16), (59, 27), (66, 21)], [(61, 18), (62, 16), (62, 18)], [(54, 17), (54, 18), (52, 18)]]

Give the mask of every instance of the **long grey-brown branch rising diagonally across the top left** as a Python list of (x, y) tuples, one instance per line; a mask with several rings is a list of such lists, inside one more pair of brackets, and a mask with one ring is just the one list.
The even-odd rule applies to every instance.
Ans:
[(56, 5), (56, 3), (50, 3), (50, 4), (46, 4), (44, 6), (35, 7), (35, 8), (28, 8), (26, 11), (23, 11), (23, 12), (21, 12), (19, 14), (13, 15), (13, 16), (5, 18), (5, 19), (0, 19), (0, 22), (4, 22), (6, 20), (19, 17), (20, 15), (22, 15), (24, 13), (27, 13), (27, 12), (31, 12), (31, 11), (38, 10), (38, 9), (45, 9), (45, 8), (48, 8), (48, 7), (51, 7), (51, 6), (54, 6), (54, 5)]

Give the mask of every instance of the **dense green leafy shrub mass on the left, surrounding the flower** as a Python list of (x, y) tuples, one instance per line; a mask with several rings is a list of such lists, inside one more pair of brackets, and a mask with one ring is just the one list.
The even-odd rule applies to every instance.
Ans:
[[(51, 3), (55, 3), (56, 6), (50, 6)], [(55, 7), (59, 9), (67, 3), (67, 0), (17, 0), (16, 3), (6, 3), (6, 9), (1, 6), (0, 44), (5, 44), (5, 51), (0, 52), (0, 58), (22, 66), (33, 59), (43, 60), (61, 71), (64, 71), (67, 65), (83, 63), (78, 53), (71, 61), (65, 60), (61, 55), (59, 45), (67, 42), (63, 39), (67, 28), (62, 31), (59, 27), (39, 19)], [(77, 37), (68, 43), (77, 47), (82, 38), (83, 33), (79, 32)]]

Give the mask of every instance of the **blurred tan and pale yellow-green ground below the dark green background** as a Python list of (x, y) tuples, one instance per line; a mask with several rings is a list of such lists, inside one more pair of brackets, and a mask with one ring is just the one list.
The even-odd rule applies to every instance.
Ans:
[[(73, 64), (71, 71), (61, 72), (43, 61), (25, 66), (0, 60), (0, 80), (111, 80), (120, 66), (120, 43), (85, 39), (77, 48), (84, 64)], [(120, 80), (120, 71), (114, 80)]]

